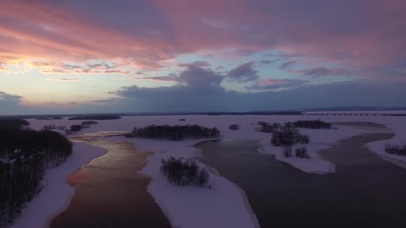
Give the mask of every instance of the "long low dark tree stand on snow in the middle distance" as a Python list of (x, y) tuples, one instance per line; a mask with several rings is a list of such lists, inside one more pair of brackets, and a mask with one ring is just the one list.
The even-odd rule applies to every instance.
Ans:
[(150, 125), (145, 128), (134, 127), (131, 133), (125, 134), (125, 137), (138, 137), (145, 139), (163, 139), (180, 141), (185, 139), (204, 139), (216, 138), (220, 136), (220, 130), (217, 128), (206, 128), (194, 125)]

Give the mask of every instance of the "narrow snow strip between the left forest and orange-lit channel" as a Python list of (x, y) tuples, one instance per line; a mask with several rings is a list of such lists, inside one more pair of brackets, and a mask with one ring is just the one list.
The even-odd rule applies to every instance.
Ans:
[(75, 187), (67, 185), (67, 176), (82, 168), (90, 160), (104, 155), (107, 150), (86, 143), (75, 142), (72, 156), (56, 168), (45, 172), (43, 189), (30, 203), (21, 210), (21, 216), (10, 226), (11, 228), (46, 227), (58, 212), (63, 211), (75, 192)]

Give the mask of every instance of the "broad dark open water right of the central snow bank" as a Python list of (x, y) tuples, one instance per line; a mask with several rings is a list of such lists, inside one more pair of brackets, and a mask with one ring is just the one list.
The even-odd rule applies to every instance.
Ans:
[(344, 139), (321, 155), (336, 173), (308, 174), (256, 141), (221, 139), (197, 144), (200, 161), (242, 187), (261, 227), (406, 227), (406, 170), (364, 144), (390, 133)]

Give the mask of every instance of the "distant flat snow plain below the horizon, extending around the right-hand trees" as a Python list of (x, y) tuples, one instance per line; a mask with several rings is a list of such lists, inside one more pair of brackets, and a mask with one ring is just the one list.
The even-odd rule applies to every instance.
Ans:
[[(178, 119), (186, 119), (180, 122)], [(200, 124), (207, 127), (217, 127), (222, 132), (224, 138), (242, 138), (242, 139), (258, 139), (262, 144), (259, 151), (272, 153), (276, 159), (290, 163), (292, 166), (299, 168), (305, 172), (312, 173), (326, 173), (334, 172), (334, 165), (319, 157), (317, 150), (328, 148), (328, 144), (335, 143), (339, 139), (359, 135), (363, 132), (370, 132), (368, 129), (353, 128), (350, 126), (338, 126), (338, 130), (310, 130), (301, 129), (301, 133), (310, 135), (310, 144), (296, 145), (292, 147), (293, 150), (299, 146), (305, 146), (308, 149), (311, 159), (298, 159), (296, 157), (285, 158), (281, 153), (281, 147), (274, 147), (270, 145), (270, 134), (255, 132), (258, 121), (265, 122), (279, 122), (284, 123), (288, 121), (296, 121), (298, 119), (321, 119), (326, 122), (376, 122), (377, 124), (387, 124), (389, 128), (394, 130), (397, 138), (406, 137), (403, 129), (406, 126), (406, 117), (390, 117), (390, 116), (307, 116), (307, 115), (169, 115), (169, 116), (133, 116), (122, 117), (122, 119), (114, 120), (100, 120), (98, 124), (92, 125), (91, 128), (85, 128), (78, 134), (84, 133), (97, 133), (99, 131), (130, 131), (133, 126), (148, 126), (150, 124)], [(73, 124), (81, 124), (81, 120), (67, 120), (67, 118), (60, 120), (36, 120), (30, 119), (31, 127), (34, 129), (41, 129), (44, 125), (55, 124), (56, 126), (71, 126)], [(240, 124), (240, 130), (228, 130), (231, 124)], [(63, 132), (63, 131), (61, 131)], [(77, 135), (70, 135), (75, 137)], [(369, 144), (372, 150), (376, 152), (383, 152), (383, 144)], [(396, 143), (399, 143), (398, 140)], [(162, 150), (165, 148), (162, 148)], [(398, 155), (392, 157), (404, 159)]]

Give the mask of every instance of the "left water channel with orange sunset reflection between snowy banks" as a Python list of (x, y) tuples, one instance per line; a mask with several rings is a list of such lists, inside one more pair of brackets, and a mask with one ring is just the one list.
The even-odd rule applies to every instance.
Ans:
[(147, 164), (150, 152), (137, 151), (127, 142), (83, 141), (109, 152), (67, 179), (76, 192), (50, 227), (171, 227), (147, 192), (149, 176), (137, 172)]

